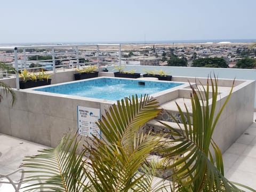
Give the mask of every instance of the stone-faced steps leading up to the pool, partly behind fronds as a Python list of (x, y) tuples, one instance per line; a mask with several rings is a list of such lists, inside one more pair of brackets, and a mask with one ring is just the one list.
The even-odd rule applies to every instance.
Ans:
[[(161, 139), (161, 141), (163, 141), (163, 149), (178, 145), (179, 142), (173, 142), (173, 139), (179, 139), (178, 136), (173, 136), (170, 133), (170, 129), (168, 129), (165, 125), (163, 125), (162, 123), (171, 126), (173, 129), (177, 130), (177, 131), (185, 131), (185, 127), (184, 124), (182, 123), (182, 119), (181, 119), (181, 115), (180, 112), (178, 110), (178, 107), (176, 105), (176, 103), (178, 103), (178, 105), (180, 106), (181, 110), (183, 111), (183, 114), (185, 115), (186, 118), (186, 122), (188, 123), (188, 118), (187, 118), (187, 114), (186, 114), (186, 108), (184, 106), (184, 103), (186, 103), (186, 106), (188, 108), (189, 111), (189, 115), (190, 115), (190, 121), (192, 123), (192, 111), (191, 111), (191, 101), (190, 99), (183, 99), (183, 98), (177, 98), (175, 100), (163, 103), (161, 105), (161, 107), (163, 108), (163, 111), (161, 114), (159, 114), (155, 119), (152, 119), (151, 121), (146, 123), (145, 129), (143, 131), (145, 132), (153, 132), (153, 133), (160, 133), (160, 135), (164, 134), (164, 138)], [(173, 117), (177, 120), (178, 124), (174, 121)], [(193, 129), (193, 127), (192, 127)], [(187, 152), (189, 153), (189, 152)], [(171, 159), (173, 159), (174, 163), (175, 161), (177, 161), (177, 159), (181, 156), (181, 155), (186, 155), (186, 154), (180, 154), (180, 155), (176, 155), (171, 157)], [(161, 164), (166, 163), (164, 162), (164, 153), (161, 152), (157, 152), (157, 153), (151, 153), (151, 155), (147, 158), (147, 161), (150, 164), (154, 164), (155, 166), (160, 166), (159, 169), (157, 169), (157, 171), (154, 173), (155, 177), (159, 177), (159, 178), (163, 178), (166, 180), (172, 180), (171, 175), (173, 174), (173, 170), (172, 169), (161, 169)]]

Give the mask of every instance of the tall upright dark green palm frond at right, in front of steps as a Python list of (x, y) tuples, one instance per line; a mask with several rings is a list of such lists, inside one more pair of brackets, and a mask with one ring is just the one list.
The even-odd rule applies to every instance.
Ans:
[[(183, 190), (186, 187), (186, 191), (240, 191), (223, 176), (221, 151), (212, 140), (215, 125), (230, 98), (233, 86), (225, 103), (223, 103), (218, 113), (215, 114), (218, 100), (218, 81), (216, 78), (214, 78), (214, 81), (210, 78), (210, 83), (212, 98), (209, 96), (209, 81), (207, 81), (206, 88), (202, 86), (202, 89), (199, 89), (197, 85), (196, 88), (190, 85), (192, 90), (191, 105), (193, 116), (190, 115), (185, 105), (185, 114), (188, 117), (186, 118), (177, 104), (182, 123), (185, 127), (184, 131), (176, 131), (173, 127), (164, 124), (170, 129), (171, 134), (179, 135), (180, 137), (172, 141), (177, 143), (177, 145), (165, 149), (165, 153), (168, 157), (183, 154), (175, 163), (169, 166), (169, 169), (175, 170), (172, 177), (177, 181), (177, 190)], [(176, 121), (174, 116), (172, 118)], [(193, 124), (190, 118), (193, 119)], [(188, 123), (186, 122), (187, 119)], [(211, 148), (214, 154), (212, 154)], [(216, 166), (214, 166), (213, 156), (216, 159)], [(175, 169), (177, 166), (180, 168)]]

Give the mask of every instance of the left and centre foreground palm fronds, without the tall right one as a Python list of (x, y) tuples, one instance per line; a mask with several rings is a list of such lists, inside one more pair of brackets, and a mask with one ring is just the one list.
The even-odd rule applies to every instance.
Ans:
[[(71, 140), (70, 136), (64, 137), (55, 149), (45, 149), (39, 155), (27, 157), (23, 167), (32, 170), (26, 172), (33, 173), (33, 169), (38, 168), (38, 174), (27, 177), (25, 182), (42, 181), (28, 189), (41, 189), (42, 185), (50, 191), (157, 191), (164, 188), (163, 185), (151, 185), (154, 177), (146, 174), (152, 172), (148, 167), (143, 167), (143, 173), (138, 171), (150, 151), (161, 145), (159, 137), (140, 131), (160, 111), (156, 100), (149, 99), (148, 95), (117, 101), (117, 105), (110, 107), (106, 117), (102, 116), (97, 123), (102, 138), (94, 137), (92, 145), (84, 146), (85, 150), (78, 156), (75, 135)], [(87, 158), (82, 161), (84, 155)]]

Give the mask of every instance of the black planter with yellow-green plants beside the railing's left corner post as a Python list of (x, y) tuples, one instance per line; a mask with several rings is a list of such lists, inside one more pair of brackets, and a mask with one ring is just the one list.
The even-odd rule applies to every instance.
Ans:
[(39, 71), (39, 73), (29, 73), (26, 69), (24, 69), (19, 74), (19, 76), (22, 77), (22, 81), (19, 82), (20, 89), (50, 85), (51, 79), (49, 77), (51, 75), (52, 74), (46, 74), (43, 69), (42, 71)]

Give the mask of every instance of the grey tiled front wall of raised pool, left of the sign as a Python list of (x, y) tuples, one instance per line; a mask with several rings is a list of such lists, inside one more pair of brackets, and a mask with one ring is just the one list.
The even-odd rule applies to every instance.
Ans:
[(15, 91), (17, 102), (0, 103), (0, 133), (55, 147), (62, 135), (77, 130), (77, 106), (105, 111), (113, 103)]

